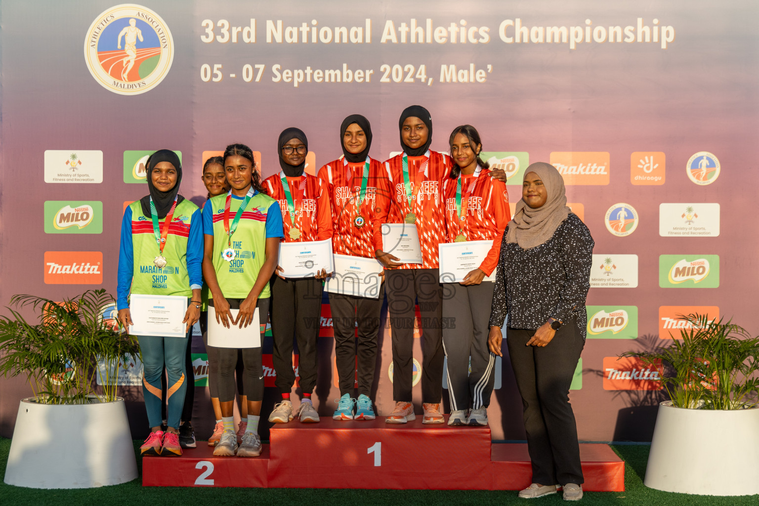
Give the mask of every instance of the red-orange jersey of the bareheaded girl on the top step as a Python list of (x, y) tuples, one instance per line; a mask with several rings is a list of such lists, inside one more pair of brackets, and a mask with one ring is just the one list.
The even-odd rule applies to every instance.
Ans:
[(458, 178), (446, 175), (442, 181), (446, 201), (446, 242), (454, 242), (458, 234), (464, 234), (467, 240), (492, 240), (493, 247), (480, 264), (480, 269), (488, 276), (498, 265), (503, 230), (511, 219), (506, 185), (491, 178), (489, 172), (490, 169), (483, 168), (477, 178), (474, 174), (461, 176), (461, 214), (466, 216), (463, 222), (456, 212)]

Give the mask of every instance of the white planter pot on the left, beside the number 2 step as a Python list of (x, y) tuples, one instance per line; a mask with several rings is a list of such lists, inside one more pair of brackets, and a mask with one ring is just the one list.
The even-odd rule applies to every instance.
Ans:
[(87, 489), (137, 478), (124, 399), (93, 404), (20, 402), (5, 482)]

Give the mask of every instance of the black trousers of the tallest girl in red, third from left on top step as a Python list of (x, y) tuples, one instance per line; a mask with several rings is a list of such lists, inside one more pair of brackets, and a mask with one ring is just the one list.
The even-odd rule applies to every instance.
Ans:
[(392, 398), (411, 402), (414, 372), (414, 301), (422, 331), (422, 402), (442, 398), (442, 287), (438, 269), (387, 269), (385, 290), (392, 335)]

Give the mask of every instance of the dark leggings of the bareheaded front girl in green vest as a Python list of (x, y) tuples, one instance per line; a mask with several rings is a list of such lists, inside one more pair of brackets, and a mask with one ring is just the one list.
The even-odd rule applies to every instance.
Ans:
[[(240, 303), (244, 299), (227, 299), (229, 308), (240, 309)], [(213, 307), (213, 299), (208, 300), (208, 305)], [(269, 298), (259, 299), (256, 303), (261, 321), (266, 322), (266, 313), (269, 313)], [(248, 327), (250, 328), (250, 326)], [(260, 332), (259, 328), (251, 328), (250, 332)], [(261, 332), (263, 342), (263, 332)], [(209, 346), (206, 349), (214, 348)], [(242, 385), (243, 393), (248, 401), (263, 401), (263, 364), (261, 363), (261, 347), (222, 348), (214, 350), (219, 358), (219, 402), (235, 400), (235, 369), (238, 364), (238, 354), (242, 353), (244, 364)]]

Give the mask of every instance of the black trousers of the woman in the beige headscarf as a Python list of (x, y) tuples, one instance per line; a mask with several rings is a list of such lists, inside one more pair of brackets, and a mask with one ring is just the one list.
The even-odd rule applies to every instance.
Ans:
[(546, 347), (525, 346), (534, 330), (508, 328), (506, 344), (524, 405), (524, 429), (532, 460), (532, 482), (584, 482), (569, 386), (584, 339), (573, 320)]

